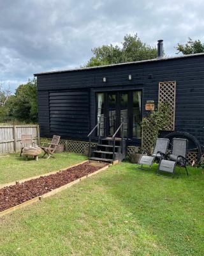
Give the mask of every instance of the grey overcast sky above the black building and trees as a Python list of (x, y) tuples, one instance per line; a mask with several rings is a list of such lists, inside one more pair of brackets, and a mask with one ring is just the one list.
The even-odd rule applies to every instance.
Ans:
[(202, 0), (0, 0), (0, 81), (14, 91), (36, 72), (80, 67), (91, 49), (124, 35), (168, 56), (191, 36), (204, 41)]

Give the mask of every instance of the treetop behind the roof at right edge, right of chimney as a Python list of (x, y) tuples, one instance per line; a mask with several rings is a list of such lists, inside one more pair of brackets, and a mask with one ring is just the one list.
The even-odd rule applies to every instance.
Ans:
[(204, 52), (204, 44), (202, 44), (200, 40), (193, 41), (193, 39), (189, 37), (185, 45), (178, 44), (176, 49), (178, 51), (177, 54), (179, 54), (179, 52), (182, 52), (184, 55), (200, 53)]

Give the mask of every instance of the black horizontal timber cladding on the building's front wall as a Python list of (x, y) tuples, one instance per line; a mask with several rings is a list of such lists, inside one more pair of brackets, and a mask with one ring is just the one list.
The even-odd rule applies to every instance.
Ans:
[(38, 75), (41, 136), (87, 140), (96, 123), (96, 92), (142, 90), (145, 116), (145, 102), (157, 104), (162, 81), (177, 82), (175, 131), (204, 144), (204, 56)]

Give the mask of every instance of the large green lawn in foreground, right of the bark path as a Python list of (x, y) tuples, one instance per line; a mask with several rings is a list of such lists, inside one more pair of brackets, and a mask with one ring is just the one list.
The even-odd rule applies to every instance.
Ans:
[(117, 164), (4, 216), (0, 255), (203, 256), (203, 188), (201, 169), (165, 179)]

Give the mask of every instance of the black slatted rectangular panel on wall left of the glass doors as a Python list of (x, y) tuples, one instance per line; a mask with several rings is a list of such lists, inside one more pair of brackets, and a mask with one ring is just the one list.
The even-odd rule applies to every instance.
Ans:
[(89, 92), (50, 92), (50, 135), (81, 139), (89, 132)]

